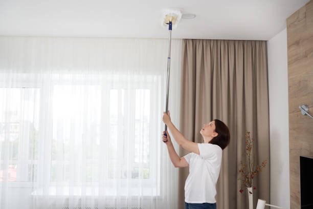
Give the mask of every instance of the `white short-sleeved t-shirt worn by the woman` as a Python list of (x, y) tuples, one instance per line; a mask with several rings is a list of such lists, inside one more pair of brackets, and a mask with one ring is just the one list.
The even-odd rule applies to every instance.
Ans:
[(215, 203), (216, 182), (222, 159), (222, 149), (216, 144), (198, 143), (199, 155), (189, 153), (184, 158), (189, 164), (185, 183), (185, 202)]

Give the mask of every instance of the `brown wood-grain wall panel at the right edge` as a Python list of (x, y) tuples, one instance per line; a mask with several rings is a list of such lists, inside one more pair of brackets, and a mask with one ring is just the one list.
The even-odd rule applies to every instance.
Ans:
[(290, 208), (300, 209), (300, 155), (313, 157), (313, 0), (287, 18)]

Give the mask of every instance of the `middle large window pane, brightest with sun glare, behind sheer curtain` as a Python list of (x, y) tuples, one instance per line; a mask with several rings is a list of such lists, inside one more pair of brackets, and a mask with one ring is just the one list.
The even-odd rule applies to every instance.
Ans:
[[(76, 171), (87, 166), (82, 163), (99, 159), (100, 119), (100, 86), (54, 86), (51, 181), (68, 181), (70, 163)], [(86, 167), (87, 180), (94, 180), (94, 171)], [(75, 176), (81, 181), (84, 175)]]

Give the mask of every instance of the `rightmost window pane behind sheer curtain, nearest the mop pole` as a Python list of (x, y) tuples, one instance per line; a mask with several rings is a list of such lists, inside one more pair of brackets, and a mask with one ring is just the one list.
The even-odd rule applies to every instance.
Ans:
[[(124, 104), (127, 106), (124, 107)], [(132, 105), (133, 104), (133, 105)], [(132, 105), (132, 106), (131, 106)], [(127, 163), (132, 163), (129, 178), (149, 178), (149, 138), (150, 138), (150, 90), (149, 89), (111, 89), (110, 90), (110, 141), (109, 178), (127, 178)], [(133, 111), (133, 112), (125, 112)], [(133, 121), (133, 122), (132, 122)], [(131, 122), (132, 124), (128, 124)], [(126, 123), (126, 124), (125, 124)], [(124, 125), (135, 127), (135, 134), (124, 133)], [(126, 143), (124, 134), (131, 136)], [(130, 145), (129, 148), (126, 146)], [(125, 149), (132, 149), (125, 150)], [(133, 153), (127, 158), (125, 153)], [(144, 170), (139, 172), (138, 163)], [(125, 167), (125, 168), (124, 168)]]

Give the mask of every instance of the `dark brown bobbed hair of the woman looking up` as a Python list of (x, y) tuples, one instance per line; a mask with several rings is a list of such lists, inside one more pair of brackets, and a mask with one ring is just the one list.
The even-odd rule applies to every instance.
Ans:
[(209, 143), (218, 145), (222, 150), (227, 147), (230, 141), (229, 129), (225, 123), (218, 119), (215, 121), (215, 132), (218, 134)]

